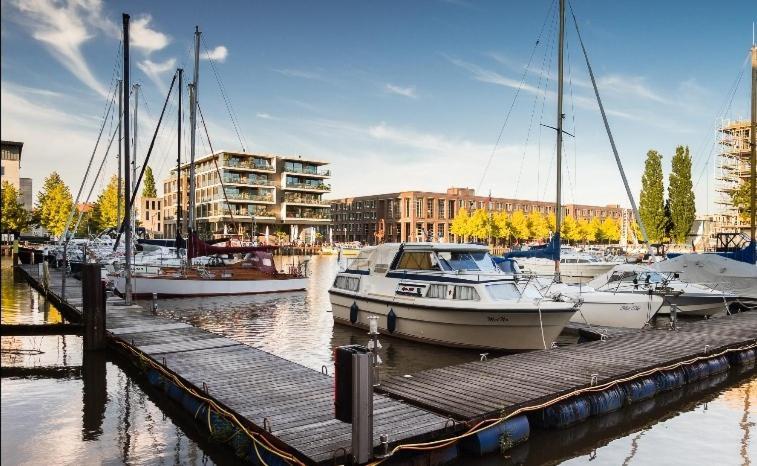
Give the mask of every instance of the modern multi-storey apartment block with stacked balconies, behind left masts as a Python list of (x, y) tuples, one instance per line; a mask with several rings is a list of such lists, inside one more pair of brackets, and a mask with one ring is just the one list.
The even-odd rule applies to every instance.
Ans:
[[(216, 168), (217, 164), (217, 168)], [(221, 151), (195, 161), (197, 229), (206, 237), (250, 238), (283, 232), (291, 240), (324, 235), (330, 222), (327, 162), (300, 156)], [(176, 170), (163, 182), (163, 228), (176, 235)], [(189, 164), (182, 166), (182, 225), (189, 206)], [(225, 194), (224, 194), (225, 192)], [(182, 227), (182, 231), (186, 231)]]

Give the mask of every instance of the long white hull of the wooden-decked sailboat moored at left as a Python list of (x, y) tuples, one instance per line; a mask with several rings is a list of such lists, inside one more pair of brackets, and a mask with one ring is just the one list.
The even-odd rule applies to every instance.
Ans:
[[(123, 295), (126, 279), (119, 276), (114, 281), (116, 291)], [(135, 275), (132, 277), (132, 296), (151, 297), (189, 297), (220, 296), (257, 293), (280, 293), (300, 291), (307, 287), (307, 278), (286, 280), (223, 280), (223, 279), (185, 279), (160, 276)]]

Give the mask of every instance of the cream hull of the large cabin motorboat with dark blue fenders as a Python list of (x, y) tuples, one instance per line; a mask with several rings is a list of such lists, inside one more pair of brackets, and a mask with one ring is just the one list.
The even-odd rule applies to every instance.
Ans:
[[(368, 328), (368, 317), (378, 316), (379, 331), (399, 338), (442, 346), (526, 351), (550, 347), (575, 310), (566, 303), (561, 308), (539, 312), (528, 303), (521, 309), (453, 310), (414, 306), (398, 300), (368, 299), (330, 291), (334, 322)], [(350, 320), (357, 306), (356, 320)], [(554, 304), (554, 303), (552, 303)], [(388, 314), (394, 311), (395, 329), (389, 330)], [(543, 330), (543, 333), (542, 333)], [(542, 336), (543, 335), (543, 336)]]

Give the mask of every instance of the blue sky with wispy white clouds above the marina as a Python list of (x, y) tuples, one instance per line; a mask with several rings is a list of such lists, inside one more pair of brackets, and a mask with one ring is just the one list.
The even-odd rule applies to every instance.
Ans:
[[(22, 176), (35, 191), (53, 170), (79, 189), (121, 73), (127, 12), (140, 164), (177, 67), (186, 110), (197, 25), (208, 127), (198, 155), (327, 161), (330, 198), (465, 186), (555, 199), (555, 0), (0, 1), (2, 138), (24, 142)], [(634, 195), (648, 150), (663, 154), (667, 186), (675, 148), (687, 145), (697, 211), (714, 211), (716, 128), (749, 117), (757, 6), (571, 3)], [(565, 50), (563, 202), (629, 206), (570, 11)], [(176, 101), (173, 92), (151, 155), (159, 186), (176, 163)], [(105, 164), (93, 200), (116, 173), (115, 147), (106, 157), (115, 113), (95, 154), (90, 179)], [(182, 120), (188, 130), (186, 111)]]

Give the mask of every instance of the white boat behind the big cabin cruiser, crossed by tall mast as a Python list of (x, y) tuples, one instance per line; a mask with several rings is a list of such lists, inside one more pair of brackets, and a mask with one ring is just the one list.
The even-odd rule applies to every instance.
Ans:
[[(542, 257), (519, 257), (524, 272), (535, 275), (553, 275), (555, 262)], [(560, 277), (566, 283), (586, 283), (618, 265), (593, 254), (578, 252), (570, 246), (560, 248)]]

